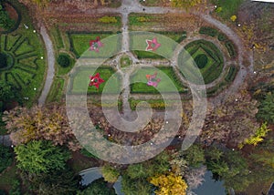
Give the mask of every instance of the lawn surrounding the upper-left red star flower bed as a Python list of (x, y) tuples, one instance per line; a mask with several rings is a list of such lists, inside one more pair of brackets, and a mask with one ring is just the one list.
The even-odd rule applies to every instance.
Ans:
[[(121, 49), (121, 36), (112, 35), (112, 32), (68, 33), (70, 51), (79, 58), (79, 56), (82, 56), (89, 50), (90, 40), (95, 40), (99, 36), (104, 46), (100, 47), (100, 52), (90, 51), (87, 55), (108, 58), (111, 54), (116, 54)], [(111, 37), (107, 38), (108, 36)]]

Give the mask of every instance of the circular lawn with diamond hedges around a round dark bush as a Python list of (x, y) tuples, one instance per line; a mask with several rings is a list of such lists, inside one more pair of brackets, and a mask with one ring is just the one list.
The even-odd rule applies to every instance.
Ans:
[(191, 61), (191, 58), (184, 56), (183, 53), (179, 55), (179, 61), (183, 63), (184, 66), (184, 77), (186, 77), (191, 82), (200, 83), (200, 74), (204, 78), (205, 84), (211, 83), (216, 80), (217, 77), (223, 71), (224, 59), (221, 51), (212, 43), (205, 40), (197, 40), (191, 42), (184, 47), (186, 51), (193, 57), (200, 54), (205, 54), (207, 56), (207, 64), (201, 69), (195, 68)]

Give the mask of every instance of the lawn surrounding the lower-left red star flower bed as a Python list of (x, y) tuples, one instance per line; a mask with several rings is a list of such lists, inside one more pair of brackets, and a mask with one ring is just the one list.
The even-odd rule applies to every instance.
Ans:
[[(90, 83), (90, 73), (95, 71), (94, 75), (96, 73), (100, 73), (100, 77), (105, 80), (100, 85), (99, 90), (92, 86), (88, 87)], [(84, 93), (87, 91), (88, 87), (88, 94), (100, 94), (103, 90), (103, 88), (106, 86), (106, 83), (108, 82), (108, 88), (107, 88), (107, 93), (118, 93), (120, 91), (121, 87), (121, 77), (119, 76), (114, 76), (111, 77), (115, 73), (115, 70), (112, 67), (99, 67), (98, 69), (92, 69), (90, 68), (80, 68), (78, 70), (78, 74), (76, 76), (71, 76), (72, 77), (72, 85), (70, 86), (70, 91), (72, 93), (78, 94), (78, 93)], [(111, 77), (111, 80), (109, 80)]]

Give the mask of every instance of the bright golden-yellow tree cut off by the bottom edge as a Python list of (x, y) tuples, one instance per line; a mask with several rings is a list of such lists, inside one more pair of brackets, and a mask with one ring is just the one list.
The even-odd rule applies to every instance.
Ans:
[(154, 186), (159, 187), (156, 190), (157, 195), (185, 195), (187, 185), (181, 176), (175, 176), (174, 173), (163, 174), (160, 176), (152, 177), (149, 180)]

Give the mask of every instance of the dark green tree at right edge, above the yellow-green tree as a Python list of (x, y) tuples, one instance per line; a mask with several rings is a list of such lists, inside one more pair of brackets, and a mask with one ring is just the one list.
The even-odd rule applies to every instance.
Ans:
[(257, 118), (274, 124), (274, 93), (269, 93), (258, 107)]

